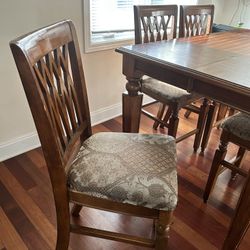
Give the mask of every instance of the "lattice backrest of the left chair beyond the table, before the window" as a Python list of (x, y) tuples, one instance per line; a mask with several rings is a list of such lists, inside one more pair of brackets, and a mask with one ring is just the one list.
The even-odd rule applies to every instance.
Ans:
[(135, 43), (175, 38), (177, 13), (177, 5), (134, 6)]

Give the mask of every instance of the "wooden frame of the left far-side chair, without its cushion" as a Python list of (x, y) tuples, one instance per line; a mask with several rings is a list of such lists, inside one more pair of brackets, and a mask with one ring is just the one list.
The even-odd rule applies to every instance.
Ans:
[[(172, 38), (176, 38), (176, 31), (177, 31), (177, 19), (178, 19), (178, 6), (177, 5), (137, 5), (134, 6), (134, 22), (135, 22), (135, 43), (136, 44), (141, 44), (141, 43), (148, 43), (148, 42), (156, 42), (156, 41), (161, 41), (161, 40), (168, 40), (169, 37), (163, 36), (159, 37), (157, 36), (156, 38), (153, 37), (152, 31), (150, 33), (150, 37), (146, 36), (144, 39), (142, 38), (142, 28), (144, 30), (145, 34), (145, 27), (147, 28), (147, 24), (142, 25), (141, 19), (143, 17), (154, 17), (155, 16), (172, 16), (174, 17), (173, 20), (173, 27), (172, 27)], [(144, 20), (144, 19), (143, 19)], [(169, 19), (168, 19), (169, 20)], [(142, 27), (143, 26), (143, 27)], [(150, 95), (147, 92), (144, 92), (145, 94)], [(154, 120), (153, 128), (157, 129), (157, 127), (160, 125), (161, 128), (167, 127), (168, 128), (168, 135), (171, 135), (173, 137), (176, 137), (177, 135), (177, 129), (179, 125), (179, 110), (181, 108), (185, 108), (189, 110), (190, 112), (194, 112), (196, 114), (199, 114), (199, 118), (197, 121), (197, 127), (190, 131), (187, 134), (184, 134), (178, 138), (176, 138), (176, 142), (180, 142), (192, 135), (195, 135), (195, 140), (194, 140), (194, 151), (196, 152), (200, 146), (201, 143), (201, 138), (202, 138), (202, 133), (205, 127), (205, 121), (206, 121), (206, 116), (208, 112), (208, 102), (207, 99), (204, 99), (202, 105), (200, 108), (192, 105), (192, 100), (189, 100), (186, 104), (183, 104), (180, 106), (178, 102), (164, 102), (164, 100), (159, 100), (157, 96), (152, 96), (154, 99), (157, 101), (160, 101), (160, 107), (158, 109), (158, 113), (156, 116), (151, 114), (150, 112), (146, 111), (144, 108), (142, 108), (141, 112), (149, 117), (150, 119)], [(196, 99), (197, 100), (197, 99)], [(195, 100), (193, 100), (195, 101)], [(168, 105), (168, 109), (165, 112), (166, 106)], [(145, 105), (147, 106), (147, 105)], [(144, 107), (145, 107), (144, 106)], [(165, 114), (164, 114), (165, 112)]]

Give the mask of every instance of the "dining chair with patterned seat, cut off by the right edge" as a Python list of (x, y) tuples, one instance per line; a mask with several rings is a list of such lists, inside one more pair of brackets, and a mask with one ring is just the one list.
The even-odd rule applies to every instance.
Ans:
[[(237, 113), (222, 122), (221, 128), (220, 145), (213, 158), (203, 195), (204, 202), (207, 202), (217, 177), (225, 169), (228, 168), (232, 171), (232, 178), (235, 178), (236, 174), (244, 177), (250, 174), (249, 171), (240, 167), (246, 151), (250, 149), (250, 116), (244, 113)], [(239, 150), (234, 159), (225, 160), (229, 142), (238, 145)]]

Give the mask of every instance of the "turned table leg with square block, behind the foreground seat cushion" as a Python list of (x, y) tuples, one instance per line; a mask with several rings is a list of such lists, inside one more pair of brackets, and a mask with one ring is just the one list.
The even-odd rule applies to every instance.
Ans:
[(138, 133), (143, 97), (138, 93), (140, 78), (128, 79), (126, 89), (128, 92), (122, 95), (123, 132)]

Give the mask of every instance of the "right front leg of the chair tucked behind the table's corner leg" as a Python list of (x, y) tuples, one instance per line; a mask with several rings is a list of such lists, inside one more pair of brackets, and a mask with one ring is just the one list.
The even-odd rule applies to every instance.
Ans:
[(199, 114), (199, 118), (197, 121), (198, 133), (195, 135), (195, 139), (194, 139), (194, 146), (193, 146), (194, 152), (196, 152), (198, 148), (200, 147), (202, 134), (203, 134), (204, 127), (206, 124), (207, 113), (208, 113), (208, 100), (204, 98), (203, 103), (200, 107), (200, 114)]

